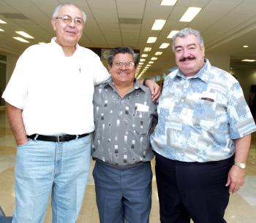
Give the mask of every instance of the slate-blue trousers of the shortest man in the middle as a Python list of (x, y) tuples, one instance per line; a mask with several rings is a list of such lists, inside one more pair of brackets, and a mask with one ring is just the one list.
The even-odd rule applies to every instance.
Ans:
[(97, 161), (94, 181), (101, 223), (148, 223), (151, 211), (151, 164), (127, 169)]

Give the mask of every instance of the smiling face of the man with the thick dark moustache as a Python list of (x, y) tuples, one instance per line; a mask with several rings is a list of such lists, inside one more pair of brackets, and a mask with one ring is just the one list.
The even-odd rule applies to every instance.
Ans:
[(191, 77), (203, 67), (205, 56), (204, 47), (200, 46), (199, 41), (194, 35), (177, 37), (175, 41), (175, 57), (178, 69), (187, 76)]

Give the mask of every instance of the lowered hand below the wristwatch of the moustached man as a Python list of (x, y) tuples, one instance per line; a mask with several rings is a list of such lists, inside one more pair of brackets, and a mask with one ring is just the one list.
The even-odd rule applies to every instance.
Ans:
[(225, 185), (226, 187), (230, 187), (230, 193), (238, 192), (238, 189), (244, 185), (245, 173), (245, 169), (241, 169), (236, 165), (233, 165), (228, 173), (227, 184)]

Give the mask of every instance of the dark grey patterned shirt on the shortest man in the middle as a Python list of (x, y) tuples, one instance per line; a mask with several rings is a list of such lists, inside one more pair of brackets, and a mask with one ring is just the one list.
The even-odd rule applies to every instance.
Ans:
[(156, 117), (157, 105), (148, 87), (137, 81), (123, 98), (112, 80), (95, 87), (92, 157), (112, 165), (151, 160), (149, 137)]

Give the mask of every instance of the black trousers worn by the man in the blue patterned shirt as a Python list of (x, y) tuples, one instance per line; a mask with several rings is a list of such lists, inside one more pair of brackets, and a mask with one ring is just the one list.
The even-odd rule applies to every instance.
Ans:
[(233, 160), (185, 163), (156, 154), (161, 222), (225, 223), (230, 196), (225, 184)]

